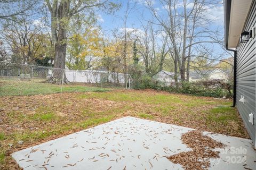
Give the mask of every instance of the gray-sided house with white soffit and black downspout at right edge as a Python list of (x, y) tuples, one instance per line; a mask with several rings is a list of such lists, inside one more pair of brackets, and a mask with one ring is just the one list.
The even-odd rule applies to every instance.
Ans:
[(234, 106), (256, 148), (255, 27), (256, 1), (225, 0), (225, 43), (234, 52)]

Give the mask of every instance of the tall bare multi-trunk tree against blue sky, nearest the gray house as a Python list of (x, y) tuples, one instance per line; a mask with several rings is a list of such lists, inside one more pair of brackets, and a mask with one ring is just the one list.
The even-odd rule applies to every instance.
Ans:
[(159, 3), (163, 5), (164, 14), (159, 14), (151, 0), (146, 0), (146, 2), (148, 9), (156, 20), (153, 23), (162, 27), (163, 31), (169, 36), (170, 54), (174, 61), (175, 81), (178, 81), (178, 69), (181, 80), (186, 80), (186, 71), (187, 80), (189, 80), (189, 63), (193, 48), (220, 42), (218, 37), (213, 35), (213, 31), (207, 28), (212, 21), (204, 16), (207, 11), (205, 1), (188, 2), (183, 0), (180, 3), (178, 0), (160, 0)]

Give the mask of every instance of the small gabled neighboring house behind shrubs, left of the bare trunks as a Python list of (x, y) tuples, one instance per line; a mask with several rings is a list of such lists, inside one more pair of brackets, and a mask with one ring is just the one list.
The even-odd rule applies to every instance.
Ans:
[[(154, 76), (154, 79), (161, 81), (164, 83), (165, 86), (170, 86), (172, 82), (175, 82), (174, 80), (174, 73), (167, 72), (164, 70), (158, 71)], [(180, 78), (178, 77), (180, 80)]]

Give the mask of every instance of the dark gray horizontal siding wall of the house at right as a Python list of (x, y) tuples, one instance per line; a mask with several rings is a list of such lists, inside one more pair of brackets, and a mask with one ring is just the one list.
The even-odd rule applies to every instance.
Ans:
[[(253, 1), (243, 31), (250, 31), (256, 24), (256, 1)], [(236, 104), (247, 131), (255, 145), (255, 38), (237, 47), (237, 97)], [(239, 101), (244, 96), (244, 104)], [(254, 114), (254, 125), (249, 123), (248, 115)]]

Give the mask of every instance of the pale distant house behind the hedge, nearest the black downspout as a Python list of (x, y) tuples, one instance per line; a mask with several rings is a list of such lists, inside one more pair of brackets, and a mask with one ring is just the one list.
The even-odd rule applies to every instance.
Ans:
[(222, 71), (220, 69), (207, 70), (189, 73), (189, 81), (199, 81), (199, 80), (225, 80), (229, 79), (228, 71)]

